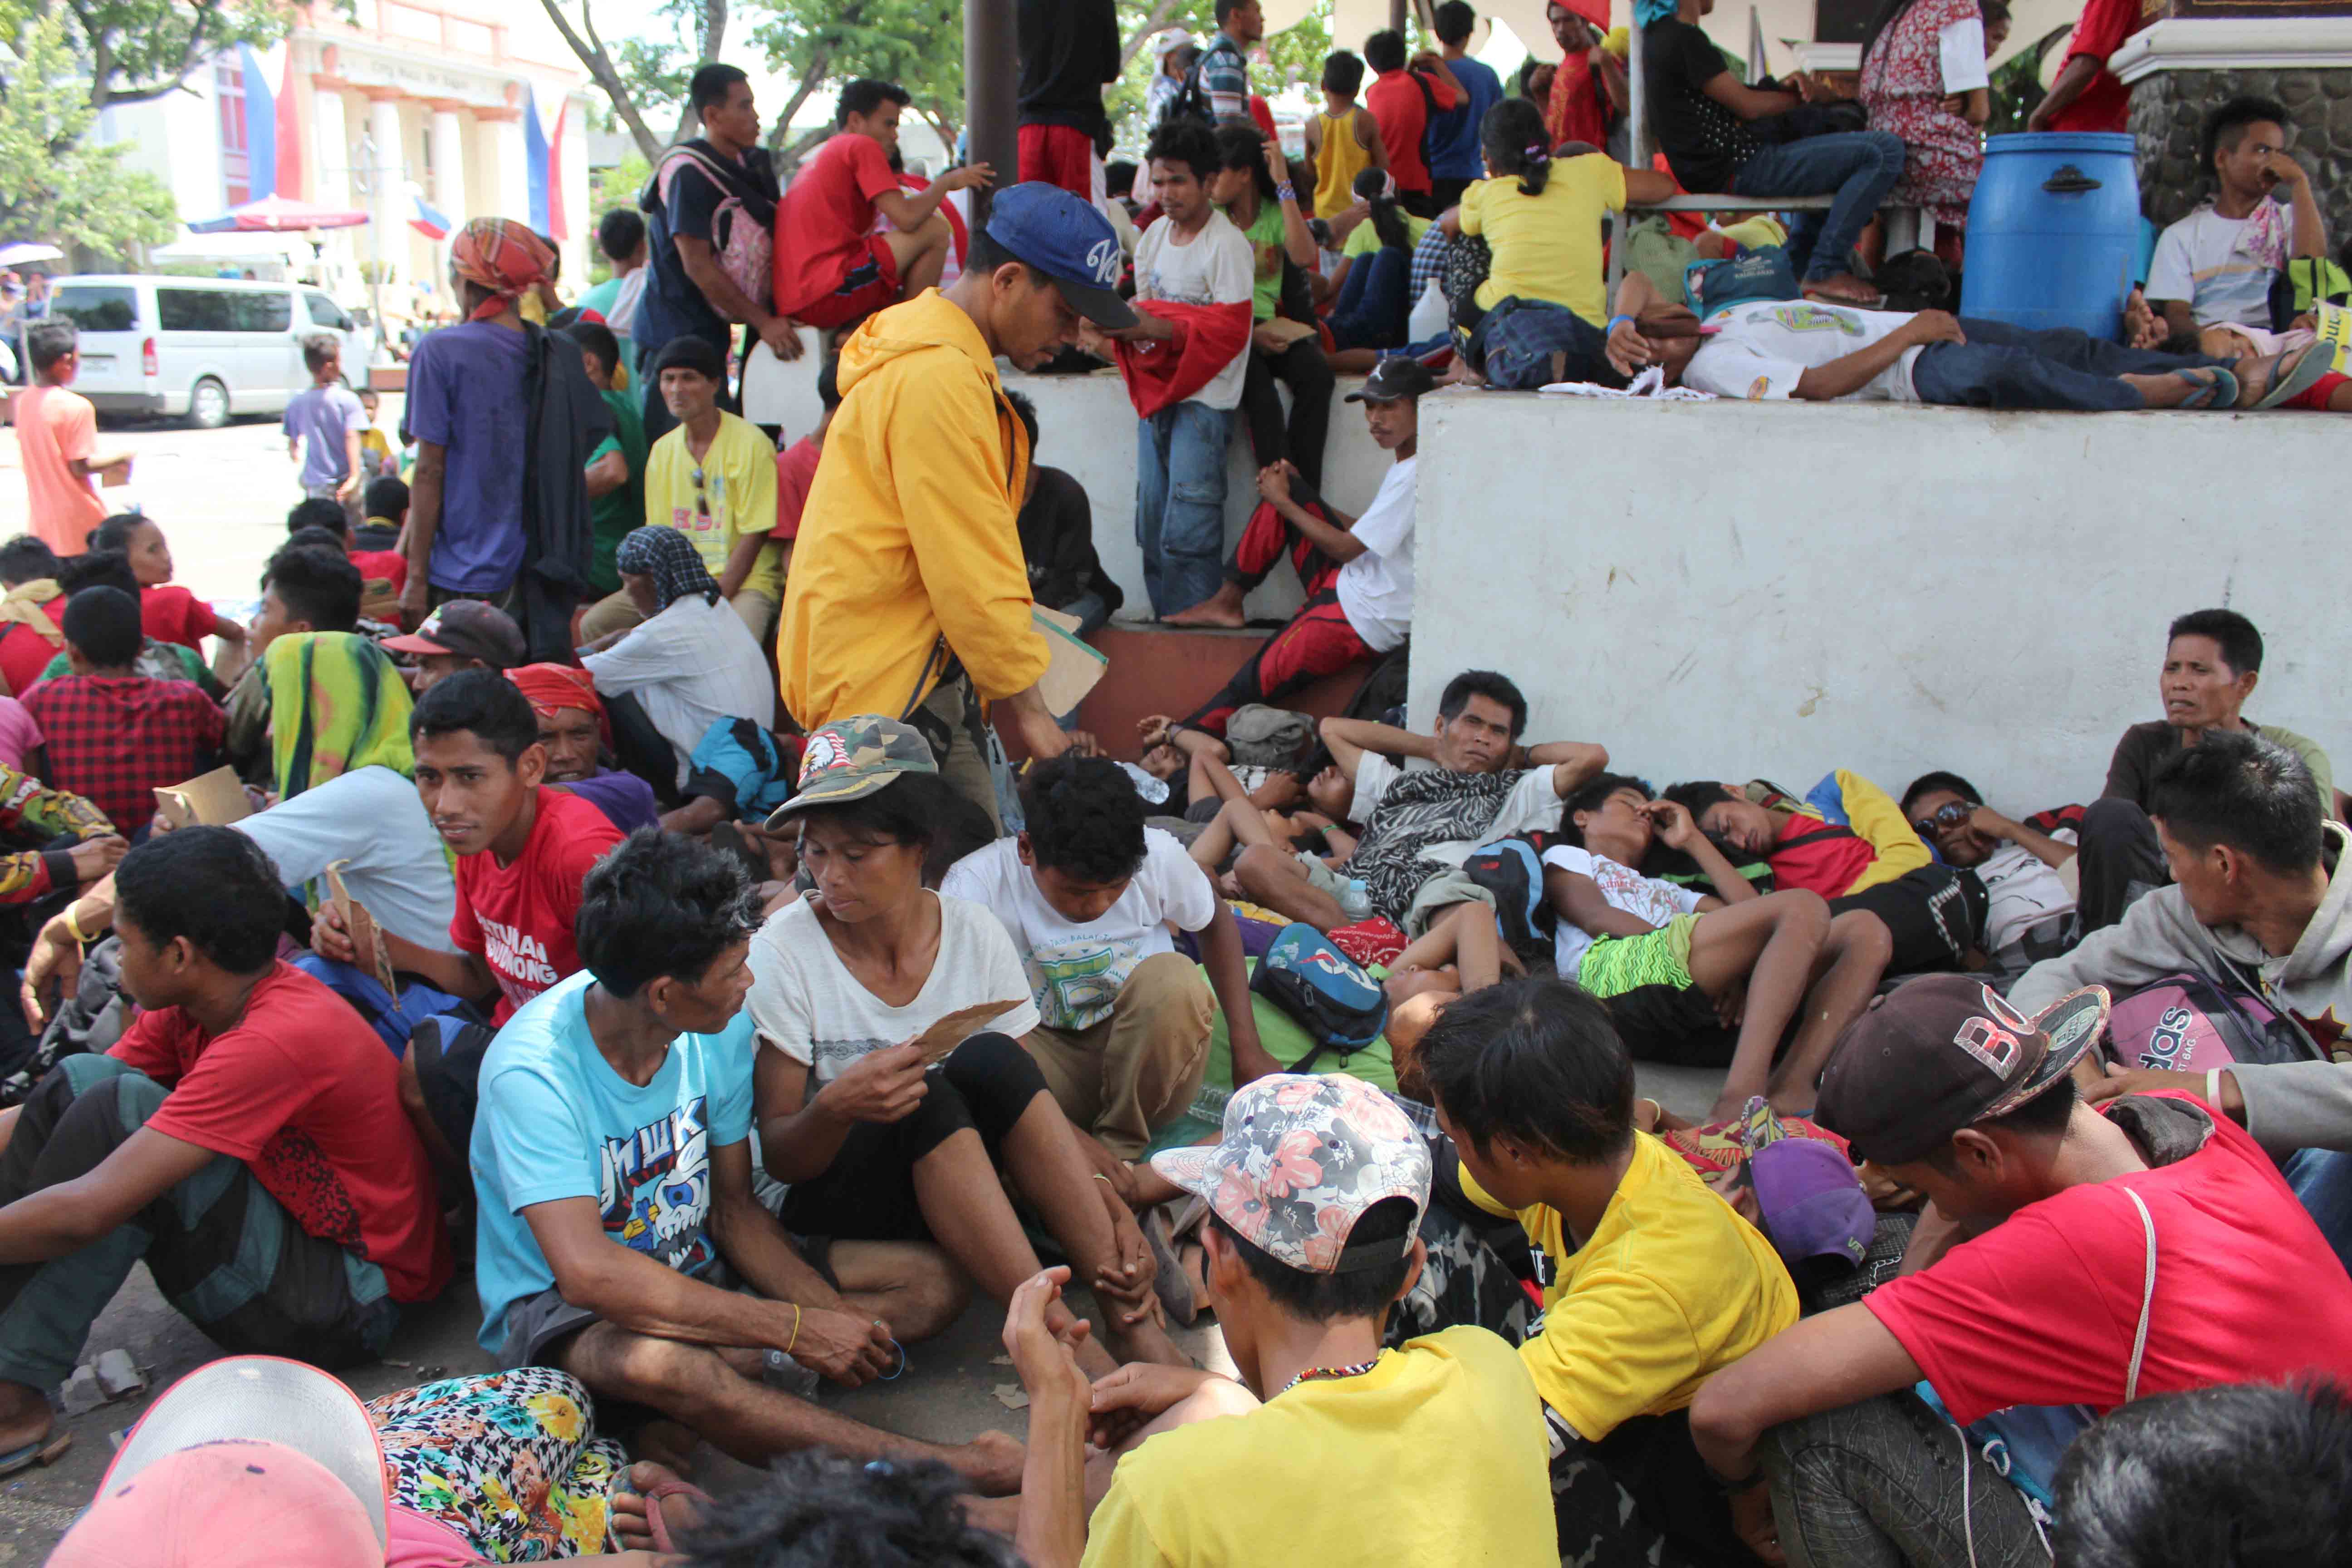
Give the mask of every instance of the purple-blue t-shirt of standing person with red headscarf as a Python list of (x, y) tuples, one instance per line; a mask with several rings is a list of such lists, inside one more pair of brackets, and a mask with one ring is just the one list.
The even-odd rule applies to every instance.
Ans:
[(428, 331), (409, 360), (409, 435), (449, 454), (435, 588), (506, 592), (522, 571), (522, 334), (496, 322)]

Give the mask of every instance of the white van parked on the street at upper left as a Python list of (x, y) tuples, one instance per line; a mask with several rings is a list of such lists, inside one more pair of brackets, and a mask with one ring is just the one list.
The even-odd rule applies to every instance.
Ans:
[(230, 414), (282, 414), (310, 386), (301, 341), (343, 343), (343, 374), (367, 369), (367, 336), (322, 289), (240, 277), (87, 273), (59, 277), (52, 320), (80, 329), (73, 390), (99, 414), (169, 414), (214, 428)]

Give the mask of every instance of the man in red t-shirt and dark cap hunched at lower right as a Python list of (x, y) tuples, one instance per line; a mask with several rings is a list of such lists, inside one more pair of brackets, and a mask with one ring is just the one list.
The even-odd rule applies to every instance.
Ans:
[(2077, 1098), (2105, 1016), (2098, 987), (2025, 1013), (1973, 976), (1922, 976), (1839, 1041), (1820, 1121), (1929, 1197), (1910, 1272), (1691, 1406), (1715, 1476), (1771, 1486), (1790, 1561), (2042, 1561), (2009, 1465), (1952, 1420), (2039, 1406), (2079, 1429), (2082, 1406), (2352, 1375), (2352, 1279), (2253, 1138), (2178, 1091)]

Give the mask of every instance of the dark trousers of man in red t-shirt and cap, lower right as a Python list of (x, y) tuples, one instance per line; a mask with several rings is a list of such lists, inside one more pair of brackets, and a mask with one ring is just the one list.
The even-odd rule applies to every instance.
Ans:
[(1917, 1394), (1783, 1422), (1759, 1458), (1790, 1568), (2049, 1561), (2025, 1495)]

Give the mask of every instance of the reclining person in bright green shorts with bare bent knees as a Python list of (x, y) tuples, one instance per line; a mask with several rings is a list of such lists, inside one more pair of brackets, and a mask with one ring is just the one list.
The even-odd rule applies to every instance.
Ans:
[[(1738, 1016), (1731, 1072), (1708, 1121), (1740, 1114), (1759, 1093), (1780, 1110), (1811, 1107), (1830, 1048), (1879, 985), (1886, 933), (1877, 919), (1832, 919), (1804, 889), (1757, 893), (1684, 806), (1649, 799), (1639, 778), (1602, 773), (1581, 788), (1559, 811), (1559, 837), (1543, 851), (1559, 976), (1609, 1001), (1618, 1034), (1644, 1060), (1686, 1063), (1693, 1039)], [(1715, 896), (1632, 870), (1651, 842), (1691, 856)], [(1776, 1072), (1792, 1020), (1797, 1037)]]

